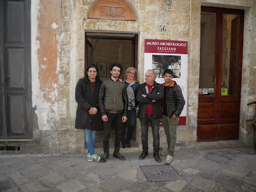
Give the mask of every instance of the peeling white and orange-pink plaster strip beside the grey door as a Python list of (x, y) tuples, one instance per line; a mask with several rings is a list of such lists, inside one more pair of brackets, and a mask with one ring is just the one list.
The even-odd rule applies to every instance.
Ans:
[(31, 18), (34, 108), (31, 151), (59, 153), (59, 52), (56, 35), (62, 30), (61, 1), (32, 1)]

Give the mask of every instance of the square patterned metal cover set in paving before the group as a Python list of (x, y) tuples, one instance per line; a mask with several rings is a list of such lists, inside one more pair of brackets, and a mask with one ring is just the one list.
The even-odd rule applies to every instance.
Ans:
[(178, 180), (181, 176), (169, 165), (140, 166), (149, 182)]

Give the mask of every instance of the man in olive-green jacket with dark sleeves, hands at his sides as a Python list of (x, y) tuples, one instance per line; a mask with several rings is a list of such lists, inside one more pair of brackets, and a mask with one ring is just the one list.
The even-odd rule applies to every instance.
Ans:
[(104, 81), (99, 90), (99, 109), (101, 110), (104, 126), (104, 155), (101, 158), (101, 162), (106, 162), (109, 156), (109, 138), (112, 125), (115, 128), (115, 151), (113, 152), (113, 157), (119, 158), (119, 160), (126, 159), (119, 153), (121, 122), (126, 122), (127, 120), (128, 104), (124, 82), (119, 81), (122, 70), (123, 66), (114, 62), (112, 66), (110, 66), (110, 79)]

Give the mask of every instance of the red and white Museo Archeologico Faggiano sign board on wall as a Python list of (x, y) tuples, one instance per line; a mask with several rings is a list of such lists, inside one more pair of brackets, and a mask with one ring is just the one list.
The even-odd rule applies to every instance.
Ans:
[[(188, 41), (145, 39), (144, 74), (147, 70), (157, 73), (156, 82), (162, 84), (164, 70), (173, 70), (173, 81), (181, 86), (185, 102), (188, 78)], [(187, 103), (187, 102), (186, 102)], [(186, 103), (179, 117), (178, 125), (186, 125)]]

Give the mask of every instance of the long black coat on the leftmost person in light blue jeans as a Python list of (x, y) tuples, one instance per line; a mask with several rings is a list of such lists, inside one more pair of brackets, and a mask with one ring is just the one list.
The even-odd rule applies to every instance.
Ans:
[[(79, 79), (75, 87), (75, 101), (77, 101), (77, 116), (75, 119), (75, 128), (81, 130), (102, 130), (103, 121), (99, 111), (99, 88), (102, 81), (96, 78), (94, 94), (92, 93), (92, 84), (88, 77)], [(90, 108), (97, 108), (95, 115), (90, 115)]]

